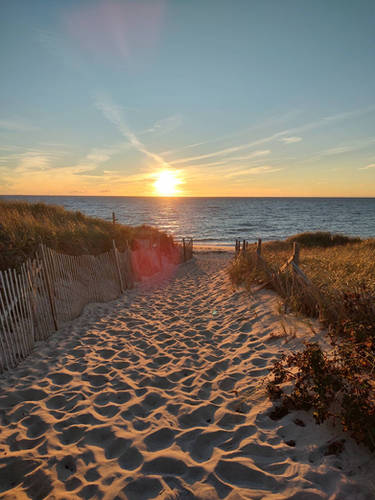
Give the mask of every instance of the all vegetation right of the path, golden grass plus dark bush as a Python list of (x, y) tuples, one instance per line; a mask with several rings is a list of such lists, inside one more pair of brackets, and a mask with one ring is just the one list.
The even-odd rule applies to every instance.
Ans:
[[(294, 241), (311, 285), (290, 267), (278, 272)], [(274, 364), (268, 391), (281, 405), (272, 417), (311, 408), (318, 423), (340, 421), (357, 442), (375, 450), (375, 240), (303, 233), (265, 243), (262, 256), (267, 265), (257, 260), (255, 247), (239, 255), (230, 268), (232, 280), (274, 288), (286, 309), (319, 317), (332, 344), (327, 353), (306, 343), (302, 352)], [(289, 394), (283, 390), (286, 382), (293, 383)]]

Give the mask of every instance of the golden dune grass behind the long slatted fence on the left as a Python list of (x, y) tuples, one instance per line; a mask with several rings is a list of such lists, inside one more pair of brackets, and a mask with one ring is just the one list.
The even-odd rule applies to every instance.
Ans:
[(17, 267), (40, 243), (70, 255), (95, 255), (112, 248), (112, 240), (124, 250), (142, 238), (173, 245), (171, 236), (150, 226), (114, 225), (59, 206), (0, 200), (0, 270)]

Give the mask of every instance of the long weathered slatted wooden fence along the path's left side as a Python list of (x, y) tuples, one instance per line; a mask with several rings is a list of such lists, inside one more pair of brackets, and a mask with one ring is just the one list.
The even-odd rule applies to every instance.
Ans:
[[(193, 243), (168, 249), (140, 242), (100, 255), (64, 255), (41, 245), (18, 270), (0, 271), (0, 372), (16, 366), (85, 305), (119, 297), (135, 281), (192, 256)], [(146, 248), (147, 247), (147, 248)]]

